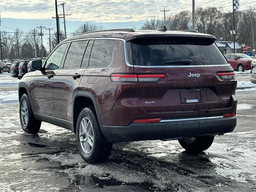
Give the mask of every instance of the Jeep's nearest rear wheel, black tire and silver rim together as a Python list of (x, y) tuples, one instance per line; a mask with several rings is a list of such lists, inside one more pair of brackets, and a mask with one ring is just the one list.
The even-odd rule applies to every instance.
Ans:
[(102, 135), (94, 108), (84, 108), (80, 112), (76, 140), (78, 151), (86, 162), (104, 162), (111, 154), (112, 143), (108, 143)]

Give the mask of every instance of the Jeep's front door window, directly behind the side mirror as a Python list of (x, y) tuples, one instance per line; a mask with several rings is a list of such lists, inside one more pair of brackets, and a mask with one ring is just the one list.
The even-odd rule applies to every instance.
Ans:
[(56, 50), (54, 50), (54, 52), (50, 55), (50, 57), (46, 61), (46, 64), (45, 64), (46, 69), (58, 69), (60, 67), (61, 61), (67, 46), (68, 46), (68, 43), (64, 43), (58, 46)]

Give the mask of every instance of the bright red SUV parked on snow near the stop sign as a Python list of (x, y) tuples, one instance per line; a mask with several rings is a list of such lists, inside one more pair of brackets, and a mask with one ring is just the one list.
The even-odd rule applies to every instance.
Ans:
[(252, 69), (252, 58), (246, 54), (226, 54), (225, 57), (234, 70), (244, 71)]

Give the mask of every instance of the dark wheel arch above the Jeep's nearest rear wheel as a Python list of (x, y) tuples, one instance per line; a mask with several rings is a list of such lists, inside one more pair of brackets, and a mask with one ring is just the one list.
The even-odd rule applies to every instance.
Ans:
[(96, 116), (98, 118), (98, 122), (100, 125), (100, 129), (102, 129), (102, 120), (100, 117), (100, 112), (98, 109), (98, 104), (93, 94), (86, 91), (78, 91), (77, 94), (74, 95), (73, 98), (73, 126), (74, 133), (76, 133), (76, 122), (81, 110), (85, 107), (94, 107)]

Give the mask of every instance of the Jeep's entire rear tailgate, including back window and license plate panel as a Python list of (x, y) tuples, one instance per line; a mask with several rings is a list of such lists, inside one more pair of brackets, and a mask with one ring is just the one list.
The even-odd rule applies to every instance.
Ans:
[(128, 55), (129, 52), (129, 63), (134, 65), (136, 74), (166, 75), (157, 82), (139, 80), (139, 98), (146, 112), (230, 107), (236, 81), (217, 75), (233, 70), (212, 39), (136, 39), (128, 42)]

